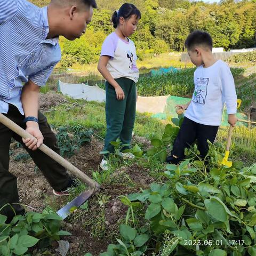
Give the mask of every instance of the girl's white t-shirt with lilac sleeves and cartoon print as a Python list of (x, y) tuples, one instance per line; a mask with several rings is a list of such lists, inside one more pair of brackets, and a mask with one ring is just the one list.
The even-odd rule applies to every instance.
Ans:
[(138, 82), (139, 69), (136, 64), (138, 58), (133, 41), (130, 39), (125, 41), (113, 32), (103, 42), (100, 55), (111, 57), (107, 69), (113, 78), (126, 77), (135, 83)]

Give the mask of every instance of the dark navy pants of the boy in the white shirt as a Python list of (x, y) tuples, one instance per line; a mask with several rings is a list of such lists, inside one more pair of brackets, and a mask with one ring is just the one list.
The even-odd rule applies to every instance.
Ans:
[(198, 124), (185, 117), (180, 127), (180, 131), (173, 143), (171, 156), (166, 161), (172, 164), (178, 164), (185, 157), (185, 148), (189, 148), (197, 140), (197, 148), (200, 151), (200, 157), (205, 158), (209, 150), (207, 140), (214, 142), (219, 126)]

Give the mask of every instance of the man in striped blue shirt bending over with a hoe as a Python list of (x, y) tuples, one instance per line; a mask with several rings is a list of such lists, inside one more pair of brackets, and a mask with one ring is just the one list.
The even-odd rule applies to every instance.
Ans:
[[(95, 7), (95, 0), (52, 0), (42, 9), (26, 0), (0, 1), (0, 113), (36, 138), (22, 140), (0, 123), (0, 208), (9, 203), (16, 214), (24, 213), (17, 204), (17, 178), (9, 172), (11, 138), (26, 146), (55, 195), (67, 195), (67, 189), (73, 185), (62, 166), (36, 150), (44, 140), (59, 154), (55, 135), (38, 111), (38, 97), (40, 87), (61, 58), (59, 36), (79, 38)], [(7, 221), (15, 213), (10, 206), (1, 211)]]

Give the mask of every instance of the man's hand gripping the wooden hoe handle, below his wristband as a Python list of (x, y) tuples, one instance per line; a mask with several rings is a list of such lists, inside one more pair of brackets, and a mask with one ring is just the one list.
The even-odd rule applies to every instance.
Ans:
[(34, 151), (43, 144), (43, 141), (44, 141), (43, 134), (39, 130), (38, 124), (32, 121), (27, 122), (26, 131), (31, 135), (33, 135), (36, 138), (36, 140), (33, 140), (33, 139), (26, 139), (26, 140), (22, 139), (22, 140), (29, 149)]

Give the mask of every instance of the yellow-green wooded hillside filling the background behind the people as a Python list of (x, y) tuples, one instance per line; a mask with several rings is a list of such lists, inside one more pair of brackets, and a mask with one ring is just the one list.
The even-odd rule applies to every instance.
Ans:
[[(30, 0), (44, 6), (51, 0)], [(113, 12), (125, 0), (97, 0), (99, 9), (86, 34), (79, 40), (68, 42), (60, 37), (63, 66), (72, 63), (97, 62), (103, 40), (114, 31)], [(140, 59), (145, 54), (163, 51), (183, 51), (187, 35), (195, 30), (208, 31), (215, 47), (239, 49), (256, 45), (256, 0), (222, 0), (205, 3), (189, 0), (130, 0), (142, 13), (137, 31), (131, 36)]]

